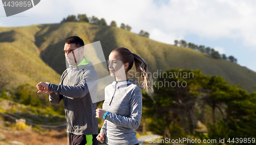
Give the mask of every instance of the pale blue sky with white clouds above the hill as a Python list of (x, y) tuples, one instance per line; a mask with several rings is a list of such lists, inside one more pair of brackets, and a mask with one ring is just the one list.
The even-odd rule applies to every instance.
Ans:
[(205, 45), (238, 59), (238, 64), (256, 71), (256, 1), (237, 0), (140, 0), (82, 1), (42, 0), (34, 8), (6, 17), (0, 5), (0, 26), (59, 23), (68, 15), (87, 14), (144, 30), (150, 38), (173, 44), (185, 40)]

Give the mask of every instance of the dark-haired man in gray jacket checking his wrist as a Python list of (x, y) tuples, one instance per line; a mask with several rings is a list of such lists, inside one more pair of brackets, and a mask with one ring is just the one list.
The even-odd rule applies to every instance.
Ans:
[(60, 79), (59, 85), (39, 82), (38, 93), (49, 94), (49, 101), (58, 104), (61, 99), (65, 106), (69, 144), (98, 144), (98, 120), (95, 99), (98, 75), (93, 64), (83, 56), (84, 43), (73, 36), (65, 41), (64, 51), (69, 68)]

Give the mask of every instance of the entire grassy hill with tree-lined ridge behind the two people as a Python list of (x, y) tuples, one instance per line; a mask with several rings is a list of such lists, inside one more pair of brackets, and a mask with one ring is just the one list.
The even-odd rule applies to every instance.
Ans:
[(106, 60), (114, 48), (126, 47), (143, 57), (152, 73), (157, 69), (158, 72), (170, 68), (200, 69), (205, 75), (223, 76), (230, 84), (238, 84), (249, 92), (256, 87), (256, 73), (246, 67), (189, 48), (157, 42), (119, 27), (86, 22), (0, 27), (2, 87), (13, 88), (25, 82), (58, 83), (59, 74), (66, 69), (63, 42), (70, 36), (81, 37), (85, 44), (100, 41)]

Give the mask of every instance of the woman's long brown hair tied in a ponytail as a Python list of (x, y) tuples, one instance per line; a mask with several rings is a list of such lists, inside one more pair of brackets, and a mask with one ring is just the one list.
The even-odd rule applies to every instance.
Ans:
[[(136, 67), (136, 75), (138, 77), (138, 85), (140, 82), (142, 83), (143, 90), (146, 91), (147, 95), (150, 96), (153, 99), (153, 86), (151, 82), (151, 73), (147, 70), (147, 64), (146, 62), (137, 54), (132, 53), (129, 49), (124, 47), (119, 47), (112, 52), (117, 52), (121, 62), (123, 64), (128, 63), (129, 67), (126, 71), (126, 73), (132, 69), (133, 63)], [(139, 85), (140, 86), (140, 85)]]

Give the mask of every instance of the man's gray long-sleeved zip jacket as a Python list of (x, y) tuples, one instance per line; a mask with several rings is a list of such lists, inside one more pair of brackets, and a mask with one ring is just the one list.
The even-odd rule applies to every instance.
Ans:
[(63, 99), (68, 133), (98, 134), (97, 105), (92, 103), (92, 99), (96, 100), (97, 88), (98, 75), (91, 62), (70, 66), (62, 73), (59, 85), (49, 84), (49, 91), (53, 92), (49, 101), (58, 104)]

